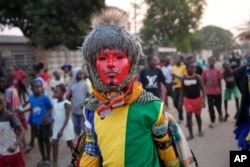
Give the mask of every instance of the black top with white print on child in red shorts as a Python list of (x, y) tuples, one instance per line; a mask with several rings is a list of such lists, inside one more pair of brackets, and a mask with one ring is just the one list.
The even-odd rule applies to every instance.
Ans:
[(190, 99), (200, 97), (200, 85), (196, 74), (193, 76), (185, 75), (182, 79), (182, 85), (184, 97)]

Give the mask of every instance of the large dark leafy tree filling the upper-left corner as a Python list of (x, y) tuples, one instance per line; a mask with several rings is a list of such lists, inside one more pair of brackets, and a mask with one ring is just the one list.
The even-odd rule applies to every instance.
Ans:
[(0, 0), (0, 24), (19, 27), (36, 47), (75, 49), (104, 0)]

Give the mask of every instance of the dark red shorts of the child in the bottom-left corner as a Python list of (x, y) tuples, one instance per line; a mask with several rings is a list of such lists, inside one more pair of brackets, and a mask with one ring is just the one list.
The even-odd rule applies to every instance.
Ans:
[(0, 154), (0, 167), (25, 167), (24, 152), (20, 152), (12, 155), (1, 155)]

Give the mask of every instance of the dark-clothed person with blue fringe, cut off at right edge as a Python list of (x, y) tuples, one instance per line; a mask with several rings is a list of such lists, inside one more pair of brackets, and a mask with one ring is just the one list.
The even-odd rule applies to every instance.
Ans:
[(250, 150), (250, 54), (246, 56), (246, 65), (234, 72), (234, 78), (241, 92), (241, 103), (237, 114), (235, 138), (242, 150)]

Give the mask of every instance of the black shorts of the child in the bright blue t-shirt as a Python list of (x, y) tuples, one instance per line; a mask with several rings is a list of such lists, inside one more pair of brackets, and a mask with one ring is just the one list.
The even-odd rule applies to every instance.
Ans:
[(31, 132), (34, 137), (41, 139), (48, 139), (52, 136), (51, 124), (48, 125), (31, 124)]

